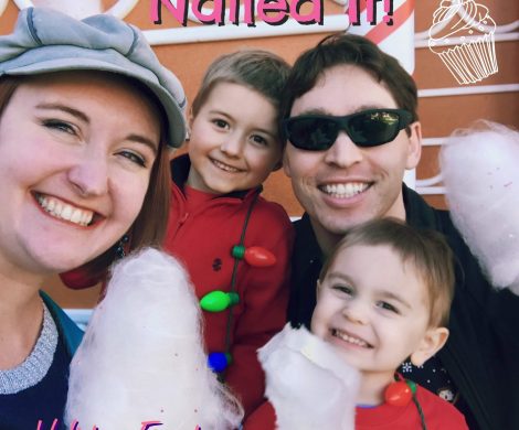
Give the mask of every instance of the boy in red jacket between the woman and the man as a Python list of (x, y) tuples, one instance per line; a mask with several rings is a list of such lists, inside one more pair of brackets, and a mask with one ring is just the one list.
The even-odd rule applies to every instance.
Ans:
[(192, 105), (189, 153), (171, 162), (165, 248), (188, 268), (210, 365), (246, 412), (264, 394), (256, 350), (283, 327), (288, 300), (292, 225), (260, 196), (282, 163), (277, 108), (288, 71), (266, 51), (219, 57)]

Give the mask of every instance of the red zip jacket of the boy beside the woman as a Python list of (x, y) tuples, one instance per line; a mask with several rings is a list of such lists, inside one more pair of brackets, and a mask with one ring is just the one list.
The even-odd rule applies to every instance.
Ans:
[[(230, 291), (235, 262), (231, 250), (240, 243), (247, 209), (261, 189), (215, 196), (188, 212), (181, 187), (189, 165), (187, 155), (171, 162), (173, 185), (165, 248), (183, 261), (201, 299), (214, 290)], [(225, 373), (225, 380), (241, 399), (245, 412), (263, 401), (265, 389), (256, 350), (280, 331), (286, 321), (292, 244), (293, 227), (286, 212), (280, 205), (258, 197), (248, 219), (244, 246), (269, 250), (276, 264), (257, 268), (241, 260), (237, 266), (240, 302), (231, 308), (233, 361)], [(225, 351), (229, 312), (203, 312), (208, 353)]]

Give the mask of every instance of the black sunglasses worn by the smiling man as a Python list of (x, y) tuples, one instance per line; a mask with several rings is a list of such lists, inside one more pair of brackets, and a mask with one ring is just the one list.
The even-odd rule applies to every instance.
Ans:
[(342, 130), (358, 147), (370, 148), (391, 142), (412, 120), (413, 116), (407, 110), (370, 109), (346, 117), (292, 117), (283, 120), (283, 130), (294, 147), (307, 151), (325, 151), (331, 148)]

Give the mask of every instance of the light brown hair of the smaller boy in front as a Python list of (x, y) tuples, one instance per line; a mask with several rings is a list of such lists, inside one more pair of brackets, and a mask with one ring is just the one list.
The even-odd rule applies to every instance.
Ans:
[[(431, 327), (447, 326), (454, 295), (454, 257), (444, 237), (417, 229), (396, 218), (374, 219), (350, 229), (327, 259), (319, 275), (322, 282), (337, 255), (354, 245), (386, 245), (402, 264), (411, 262), (427, 287)], [(373, 261), (373, 270), (378, 270)]]

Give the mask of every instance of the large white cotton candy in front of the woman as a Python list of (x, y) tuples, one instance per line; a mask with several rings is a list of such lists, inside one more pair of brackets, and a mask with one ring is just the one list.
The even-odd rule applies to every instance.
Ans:
[(66, 422), (82, 429), (233, 429), (242, 409), (206, 366), (183, 268), (147, 249), (113, 272), (71, 364)]

